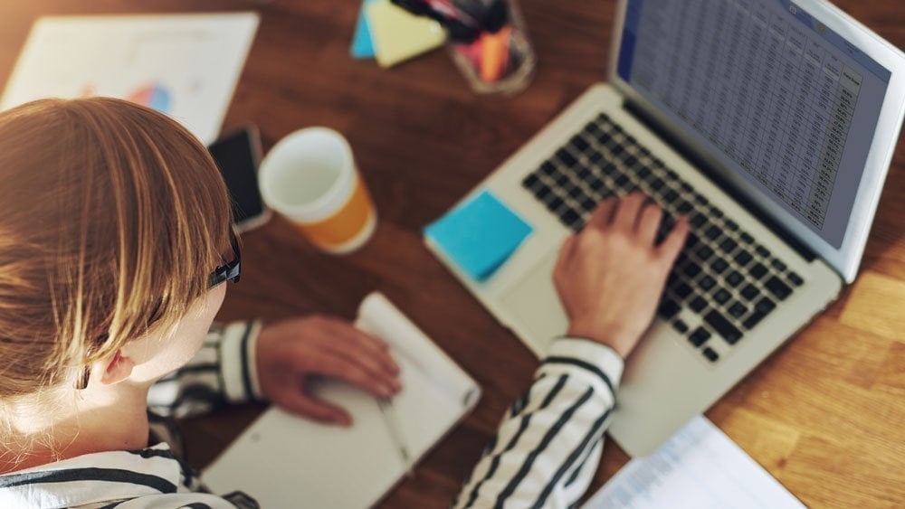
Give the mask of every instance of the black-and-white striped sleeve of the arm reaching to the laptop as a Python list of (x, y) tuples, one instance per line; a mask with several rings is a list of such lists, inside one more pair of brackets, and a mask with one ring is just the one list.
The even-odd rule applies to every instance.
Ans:
[(453, 507), (569, 507), (590, 485), (622, 377), (603, 344), (557, 340)]

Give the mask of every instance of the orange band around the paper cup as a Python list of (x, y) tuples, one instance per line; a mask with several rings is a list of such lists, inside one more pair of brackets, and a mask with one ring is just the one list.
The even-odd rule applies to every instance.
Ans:
[(374, 211), (371, 196), (360, 177), (348, 201), (333, 215), (318, 222), (293, 222), (297, 230), (312, 243), (324, 248), (336, 248), (354, 240), (367, 226)]

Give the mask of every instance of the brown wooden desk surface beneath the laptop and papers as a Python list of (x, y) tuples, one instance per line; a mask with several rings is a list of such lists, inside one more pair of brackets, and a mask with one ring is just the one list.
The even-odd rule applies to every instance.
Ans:
[[(837, 2), (899, 47), (899, 2)], [(421, 229), (521, 146), (588, 85), (605, 79), (614, 2), (523, 0), (538, 73), (512, 99), (468, 90), (444, 52), (392, 71), (348, 57), (356, 0), (33, 0), (0, 7), (0, 79), (42, 14), (255, 8), (262, 24), (224, 128), (261, 127), (269, 147), (322, 125), (351, 142), (380, 214), (364, 250), (334, 258), (275, 219), (245, 236), (243, 282), (221, 317), (351, 317), (379, 289), (481, 382), (485, 396), (386, 498), (443, 507), (537, 364), (424, 249)], [(14, 4), (14, 5), (11, 5)], [(713, 406), (708, 417), (810, 506), (905, 504), (905, 145), (899, 144), (858, 281)], [(189, 459), (204, 466), (260, 407), (186, 422)], [(610, 443), (596, 488), (627, 460)]]

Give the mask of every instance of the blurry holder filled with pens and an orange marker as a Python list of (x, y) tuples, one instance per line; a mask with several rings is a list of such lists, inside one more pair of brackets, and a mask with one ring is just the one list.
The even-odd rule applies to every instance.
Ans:
[(480, 94), (524, 90), (537, 59), (516, 0), (392, 0), (446, 28), (447, 48), (459, 71)]

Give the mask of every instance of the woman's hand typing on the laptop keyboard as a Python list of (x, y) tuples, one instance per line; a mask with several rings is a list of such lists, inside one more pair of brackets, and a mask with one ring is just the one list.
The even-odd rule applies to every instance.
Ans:
[(597, 206), (559, 251), (553, 281), (569, 318), (567, 335), (606, 344), (625, 358), (660, 301), (689, 231), (681, 218), (660, 245), (662, 210), (643, 193)]

